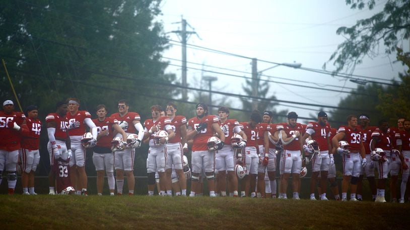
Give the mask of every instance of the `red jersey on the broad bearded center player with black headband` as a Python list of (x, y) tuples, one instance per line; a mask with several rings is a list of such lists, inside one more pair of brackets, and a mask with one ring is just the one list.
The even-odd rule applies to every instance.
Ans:
[(208, 151), (207, 143), (208, 139), (214, 136), (215, 130), (212, 128), (213, 124), (218, 124), (219, 119), (214, 115), (204, 116), (202, 119), (197, 117), (191, 118), (188, 121), (188, 127), (193, 130), (198, 127), (199, 123), (207, 123), (207, 128), (203, 129), (201, 132), (193, 137), (192, 151)]

